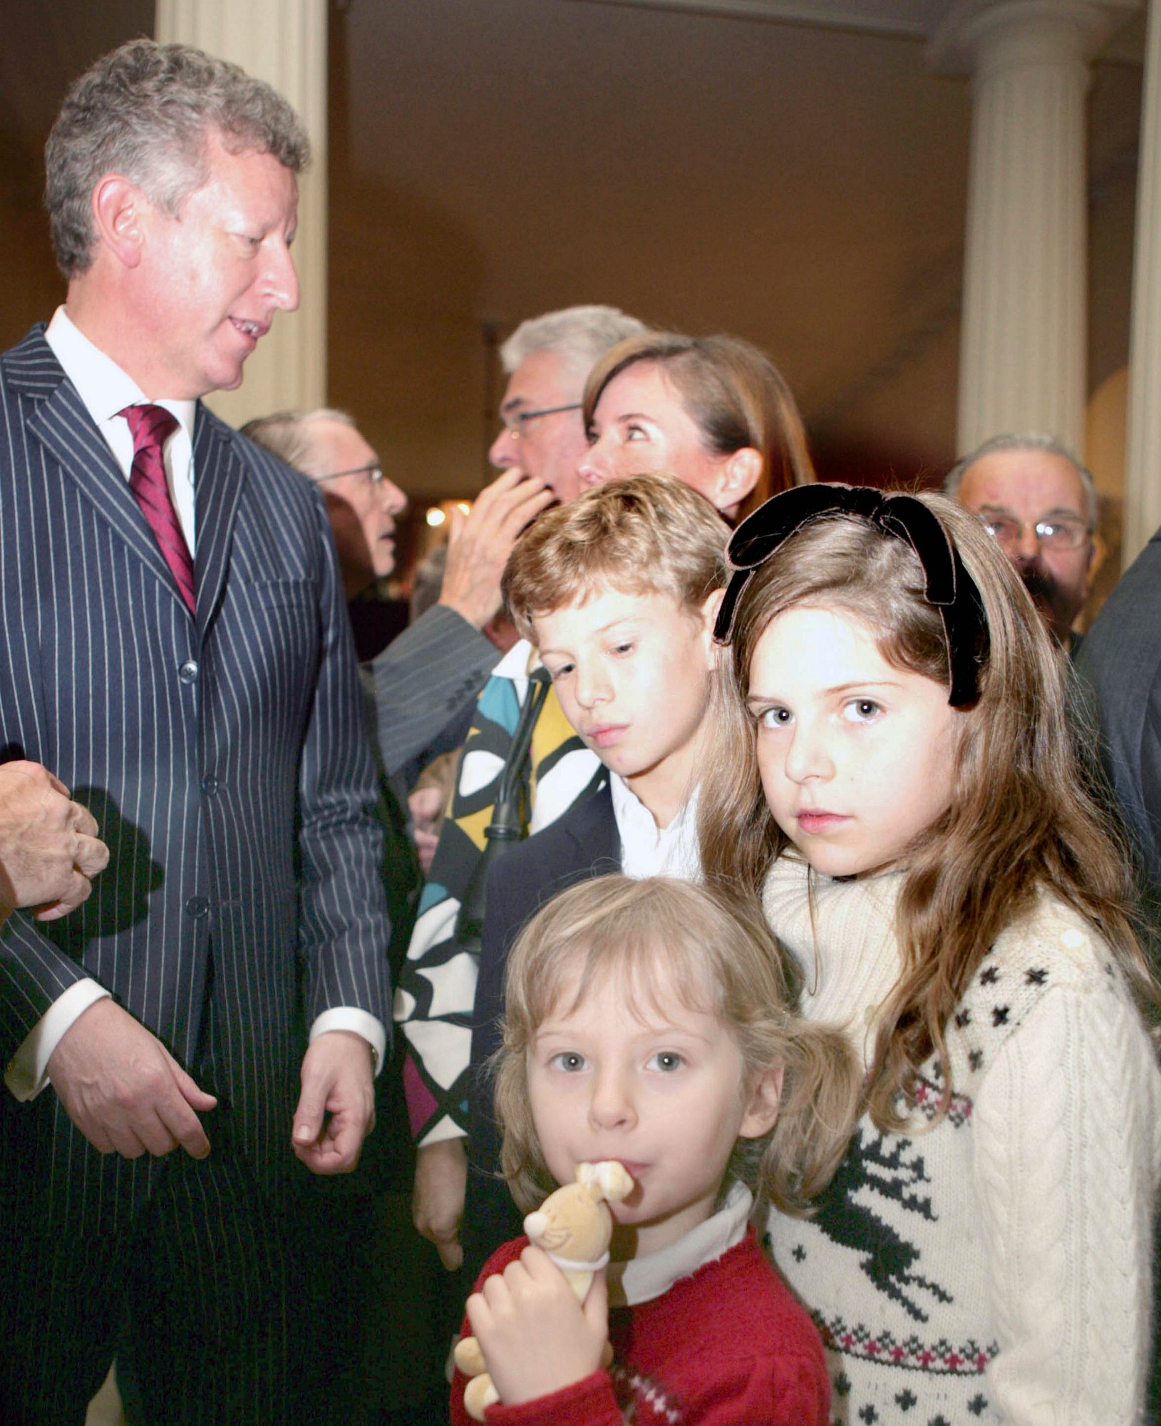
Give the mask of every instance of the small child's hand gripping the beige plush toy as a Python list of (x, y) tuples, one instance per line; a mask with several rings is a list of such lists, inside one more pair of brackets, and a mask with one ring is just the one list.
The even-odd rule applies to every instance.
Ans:
[(505, 1405), (548, 1396), (600, 1366), (609, 1336), (605, 1272), (593, 1276), (582, 1308), (548, 1253), (528, 1246), (468, 1298), (468, 1319)]

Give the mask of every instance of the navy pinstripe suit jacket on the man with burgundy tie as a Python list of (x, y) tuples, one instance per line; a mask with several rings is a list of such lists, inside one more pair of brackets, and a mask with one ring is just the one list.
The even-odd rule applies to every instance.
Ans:
[[(305, 1025), (335, 1005), (389, 1024), (329, 525), (310, 482), (198, 405), (194, 619), (41, 332), (0, 358), (0, 749), (53, 769), (111, 860), (71, 917), (0, 933), (0, 1057), (94, 977), (220, 1097), (221, 1138), (268, 1181), (291, 1161)], [(6, 1115), (73, 1196), (77, 1178), (147, 1184), (148, 1159), (101, 1161), (54, 1094), (0, 1091)]]

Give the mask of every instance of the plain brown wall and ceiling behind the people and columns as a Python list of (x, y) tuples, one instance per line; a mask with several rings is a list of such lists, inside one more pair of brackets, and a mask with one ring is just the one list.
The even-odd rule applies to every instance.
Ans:
[[(763, 347), (832, 471), (947, 463), (971, 97), (927, 66), (941, 6), (332, 0), (329, 398), (406, 489), (469, 493), (496, 341), (613, 302)], [(0, 231), (27, 247), (4, 344), (58, 299), (37, 195), (60, 94), (151, 19), (0, 0)], [(1094, 70), (1094, 386), (1128, 348), (1141, 30)]]

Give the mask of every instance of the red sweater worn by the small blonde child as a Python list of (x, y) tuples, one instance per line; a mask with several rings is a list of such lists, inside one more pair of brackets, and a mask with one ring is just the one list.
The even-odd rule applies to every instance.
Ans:
[[(505, 1243), (481, 1281), (526, 1245)], [(519, 1406), (489, 1406), (489, 1426), (826, 1426), (830, 1386), (819, 1333), (753, 1229), (660, 1298), (610, 1312), (609, 1338), (608, 1372)], [(459, 1372), (451, 1419), (471, 1426)]]

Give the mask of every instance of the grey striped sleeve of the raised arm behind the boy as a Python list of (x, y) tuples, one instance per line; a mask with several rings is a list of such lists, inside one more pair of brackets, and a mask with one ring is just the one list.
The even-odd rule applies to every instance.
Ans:
[(499, 652), (446, 605), (432, 605), (384, 649), (375, 679), (379, 753), (397, 773), (475, 703)]

